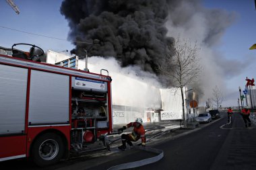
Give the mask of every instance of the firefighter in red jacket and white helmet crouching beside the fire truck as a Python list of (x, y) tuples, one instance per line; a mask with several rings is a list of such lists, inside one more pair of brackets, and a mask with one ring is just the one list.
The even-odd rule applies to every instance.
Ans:
[(133, 146), (131, 141), (135, 142), (141, 138), (141, 146), (146, 146), (146, 137), (145, 137), (145, 130), (142, 125), (142, 120), (141, 119), (136, 119), (135, 122), (131, 122), (127, 124), (126, 126), (123, 126), (123, 128), (119, 128), (119, 132), (123, 132), (126, 128), (129, 128), (133, 126), (133, 132), (131, 134), (122, 134), (121, 139), (122, 139), (122, 145), (118, 146), (119, 149), (125, 150), (126, 148), (126, 142), (129, 144), (129, 146)]

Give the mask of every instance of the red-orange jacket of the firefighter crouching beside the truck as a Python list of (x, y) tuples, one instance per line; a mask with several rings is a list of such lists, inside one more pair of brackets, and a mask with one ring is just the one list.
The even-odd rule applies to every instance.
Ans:
[(145, 130), (143, 128), (143, 125), (140, 124), (139, 127), (136, 127), (136, 122), (131, 122), (126, 125), (126, 128), (129, 128), (133, 126), (133, 132), (131, 133), (131, 137), (133, 140), (139, 140), (141, 138), (141, 144), (146, 143), (146, 137), (145, 137)]

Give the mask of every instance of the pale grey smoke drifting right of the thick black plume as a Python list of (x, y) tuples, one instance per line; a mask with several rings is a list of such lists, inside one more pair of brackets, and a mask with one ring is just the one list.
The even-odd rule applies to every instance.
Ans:
[(199, 58), (203, 71), (199, 86), (204, 95), (201, 103), (212, 97), (212, 89), (217, 85), (224, 95), (228, 93), (225, 86), (226, 77), (232, 77), (234, 72), (241, 71), (238, 62), (226, 65), (229, 60), (214, 50), (221, 43), (221, 37), (226, 28), (234, 21), (234, 13), (222, 10), (205, 9), (200, 1), (179, 1), (172, 4), (169, 19), (166, 23), (167, 36), (185, 38), (199, 44)]

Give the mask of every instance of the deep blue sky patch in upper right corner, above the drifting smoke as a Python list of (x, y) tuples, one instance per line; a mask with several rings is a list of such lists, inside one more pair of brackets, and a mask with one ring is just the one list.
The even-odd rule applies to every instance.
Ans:
[[(227, 58), (239, 58), (251, 54), (248, 50), (255, 44), (256, 11), (254, 0), (205, 0), (205, 7), (224, 9), (236, 13), (236, 19), (222, 37), (222, 51)], [(243, 43), (241, 43), (243, 42)], [(241, 58), (242, 59), (242, 58)]]

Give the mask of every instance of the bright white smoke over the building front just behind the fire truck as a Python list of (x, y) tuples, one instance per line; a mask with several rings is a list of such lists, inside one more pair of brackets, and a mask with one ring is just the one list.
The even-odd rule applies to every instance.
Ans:
[[(79, 60), (78, 69), (84, 69), (85, 60)], [(106, 69), (113, 79), (112, 97), (114, 105), (129, 105), (141, 108), (160, 108), (160, 84), (152, 73), (141, 71), (139, 67), (123, 67), (113, 58), (93, 56), (88, 58), (88, 69), (100, 73)], [(106, 75), (106, 72), (102, 71)]]

